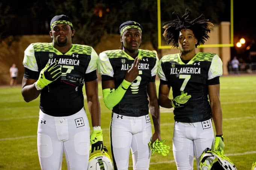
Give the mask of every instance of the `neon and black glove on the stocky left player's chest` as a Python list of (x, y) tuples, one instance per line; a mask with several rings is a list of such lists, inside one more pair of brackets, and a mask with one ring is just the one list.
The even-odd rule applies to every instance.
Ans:
[(62, 75), (61, 66), (56, 62), (49, 64), (41, 70), (38, 80), (36, 81), (36, 89), (41, 90), (48, 84), (52, 83)]

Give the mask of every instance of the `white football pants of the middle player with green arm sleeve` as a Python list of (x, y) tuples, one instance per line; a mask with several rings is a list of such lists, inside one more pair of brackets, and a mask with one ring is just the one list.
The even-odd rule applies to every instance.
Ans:
[(115, 170), (128, 170), (130, 149), (133, 170), (148, 170), (151, 135), (149, 115), (132, 117), (113, 113), (110, 136)]

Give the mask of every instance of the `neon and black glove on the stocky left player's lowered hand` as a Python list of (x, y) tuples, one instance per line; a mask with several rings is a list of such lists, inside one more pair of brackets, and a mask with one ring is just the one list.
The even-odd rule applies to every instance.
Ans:
[(97, 150), (103, 149), (103, 134), (102, 130), (93, 130), (90, 136), (90, 141), (92, 145), (91, 153)]

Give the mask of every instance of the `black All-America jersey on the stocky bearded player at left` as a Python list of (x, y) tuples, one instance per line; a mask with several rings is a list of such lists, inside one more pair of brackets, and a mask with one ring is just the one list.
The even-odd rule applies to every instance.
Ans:
[(25, 78), (38, 79), (47, 63), (57, 62), (62, 76), (45, 86), (40, 95), (40, 109), (52, 116), (72, 115), (84, 106), (84, 81), (97, 78), (98, 55), (90, 46), (76, 45), (65, 54), (52, 43), (32, 43), (24, 52)]

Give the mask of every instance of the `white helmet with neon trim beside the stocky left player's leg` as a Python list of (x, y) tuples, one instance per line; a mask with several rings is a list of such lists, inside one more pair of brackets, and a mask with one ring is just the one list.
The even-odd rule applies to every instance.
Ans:
[(87, 170), (113, 170), (113, 163), (107, 152), (108, 149), (104, 146), (101, 153), (92, 155)]

